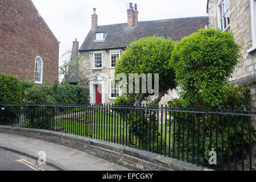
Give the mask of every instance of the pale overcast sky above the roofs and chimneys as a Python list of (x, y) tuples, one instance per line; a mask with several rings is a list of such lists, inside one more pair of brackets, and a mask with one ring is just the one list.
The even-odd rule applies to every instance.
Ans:
[(137, 3), (139, 21), (207, 16), (207, 0), (32, 0), (53, 34), (60, 42), (61, 55), (72, 49), (77, 38), (79, 46), (91, 27), (93, 8), (98, 25), (127, 23), (129, 3)]

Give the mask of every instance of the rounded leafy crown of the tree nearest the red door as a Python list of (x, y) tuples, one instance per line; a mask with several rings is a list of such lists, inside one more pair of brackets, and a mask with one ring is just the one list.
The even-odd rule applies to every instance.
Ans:
[[(164, 39), (156, 36), (142, 38), (130, 43), (122, 54), (121, 60), (115, 65), (115, 76), (119, 73), (125, 74), (127, 78), (130, 73), (137, 73), (138, 75), (144, 73), (146, 77), (150, 73), (159, 74), (159, 97), (155, 100), (156, 103), (159, 103), (162, 96), (169, 89), (175, 88), (174, 69), (169, 65), (174, 46), (175, 43), (170, 38)], [(142, 81), (136, 81), (139, 81), (141, 85)], [(141, 102), (151, 93), (140, 92), (127, 95), (133, 96), (136, 100), (135, 102), (141, 105)]]

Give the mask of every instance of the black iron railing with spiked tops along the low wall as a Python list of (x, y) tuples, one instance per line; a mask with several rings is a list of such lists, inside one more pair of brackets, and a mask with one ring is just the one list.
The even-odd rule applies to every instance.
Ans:
[(253, 170), (256, 113), (133, 105), (0, 104), (0, 125), (105, 140), (216, 170)]

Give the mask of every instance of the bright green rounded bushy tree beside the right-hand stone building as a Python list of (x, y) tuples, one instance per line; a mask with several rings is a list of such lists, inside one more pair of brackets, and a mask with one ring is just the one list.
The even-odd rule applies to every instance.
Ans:
[(172, 52), (179, 95), (189, 104), (217, 106), (227, 100), (224, 86), (238, 64), (240, 46), (231, 32), (201, 29)]

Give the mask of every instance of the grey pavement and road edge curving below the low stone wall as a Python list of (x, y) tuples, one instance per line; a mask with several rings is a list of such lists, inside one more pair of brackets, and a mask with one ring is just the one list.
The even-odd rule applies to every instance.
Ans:
[[(45, 170), (64, 169), (68, 171), (129, 171), (130, 169), (119, 166), (118, 164), (110, 163), (104, 159), (97, 158), (96, 156), (86, 154), (85, 152), (76, 150), (74, 148), (60, 146), (59, 144), (44, 142), (43, 140), (32, 139), (27, 137), (20, 137), (10, 134), (0, 133), (0, 170), (22, 169), (20, 163), (26, 160), (34, 165), (39, 158), (39, 152), (46, 152), (46, 163), (49, 166), (38, 166)], [(6, 151), (9, 150), (9, 151)], [(10, 152), (11, 151), (11, 152)], [(15, 153), (13, 153), (15, 152)], [(17, 154), (18, 153), (18, 154)], [(42, 155), (42, 154), (41, 154)], [(27, 156), (27, 157), (25, 157)], [(36, 160), (32, 160), (34, 158)], [(22, 161), (16, 160), (24, 159)], [(10, 168), (8, 166), (10, 165)], [(17, 165), (15, 167), (15, 165)], [(19, 165), (19, 166), (18, 166)], [(32, 165), (31, 165), (32, 166)], [(1, 169), (3, 167), (3, 169)], [(23, 167), (24, 170), (27, 168)], [(22, 170), (23, 170), (22, 169)]]

